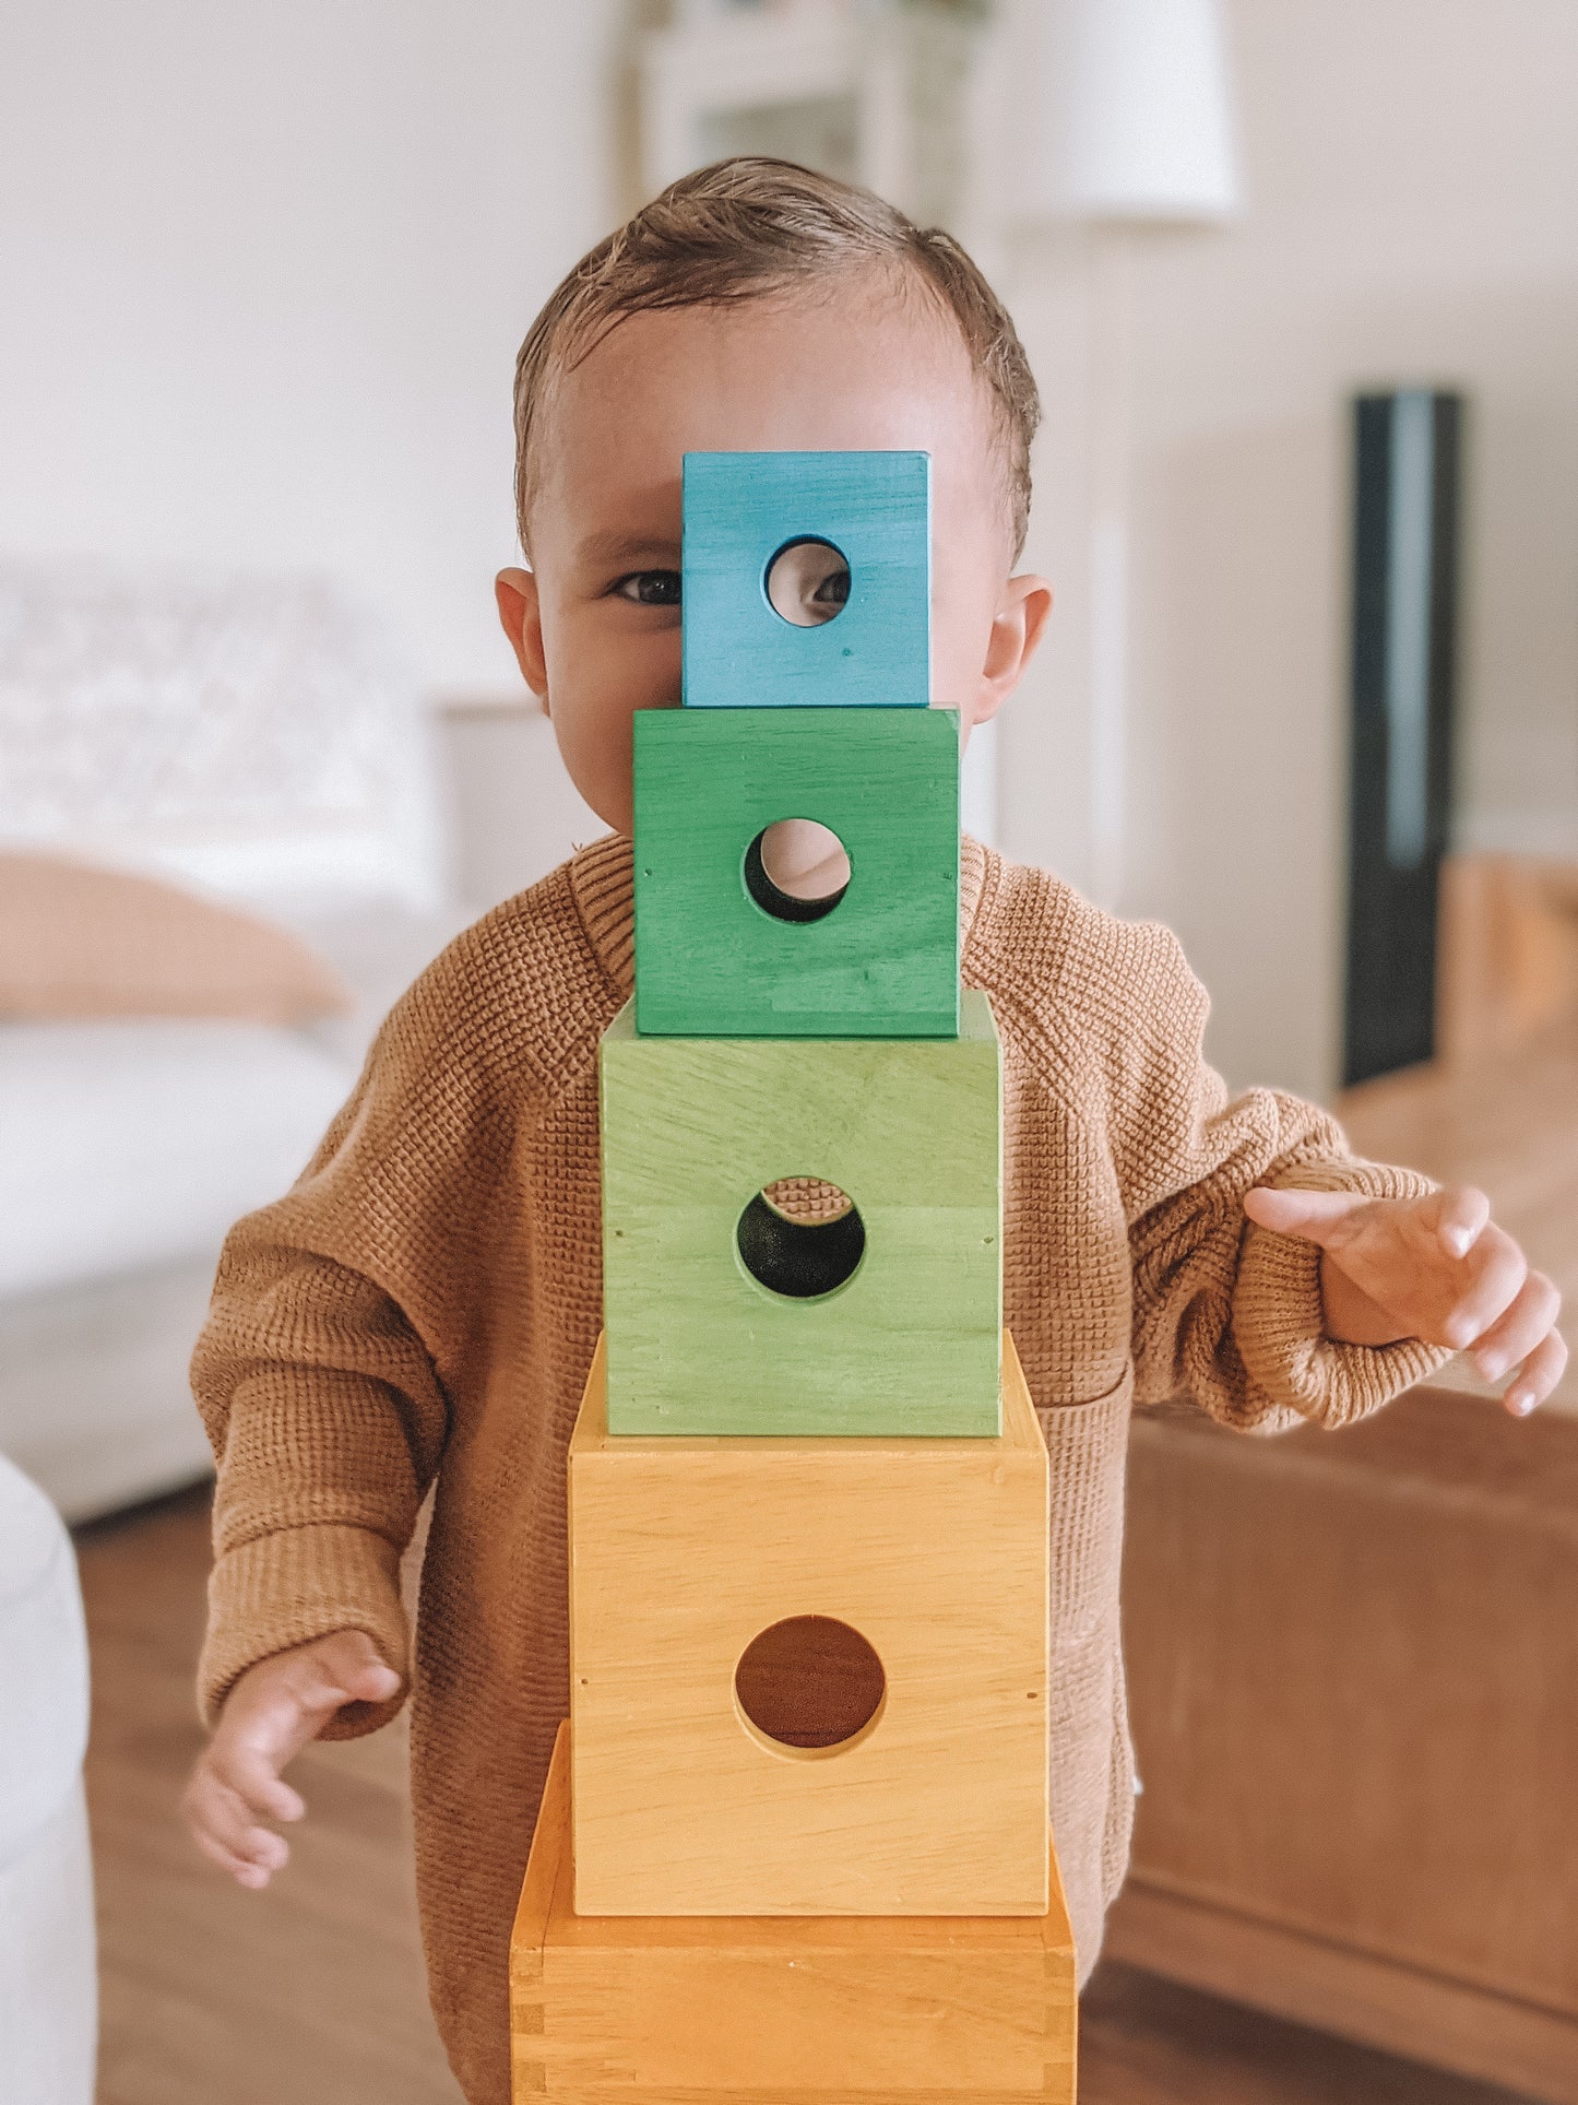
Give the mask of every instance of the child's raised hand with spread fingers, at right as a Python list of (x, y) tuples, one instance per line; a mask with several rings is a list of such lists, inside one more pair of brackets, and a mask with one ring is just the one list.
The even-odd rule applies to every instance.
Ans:
[(1485, 1381), (1500, 1381), (1521, 1362), (1504, 1398), (1515, 1417), (1528, 1417), (1561, 1381), (1561, 1295), (1542, 1271), (1530, 1271), (1473, 1185), (1427, 1198), (1256, 1185), (1243, 1210), (1260, 1227), (1319, 1244), (1328, 1337), (1349, 1345), (1418, 1337), (1454, 1351), (1473, 1347)]

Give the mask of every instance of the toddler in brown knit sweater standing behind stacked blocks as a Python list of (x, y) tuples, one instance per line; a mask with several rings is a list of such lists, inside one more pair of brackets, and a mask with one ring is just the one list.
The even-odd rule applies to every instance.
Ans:
[[(507, 2105), (507, 1945), (568, 1713), (564, 1461), (602, 1324), (598, 1038), (631, 994), (631, 714), (680, 701), (688, 450), (922, 448), (932, 699), (1014, 690), (1052, 592), (1016, 573), (1035, 385), (945, 234), (804, 168), (734, 160), (579, 263), (515, 383), (522, 674), (610, 831), (463, 935), (385, 1021), (299, 1183), (219, 1265), (194, 1385), (219, 1457), (187, 1791), (246, 1886), (284, 1863), (311, 1737), (412, 1697), (433, 2008), (471, 2105)], [(741, 701), (749, 701), (743, 695)], [(814, 827), (774, 878), (837, 878)], [(821, 871), (816, 865), (823, 865)], [(1052, 1815), (1081, 1977), (1134, 1775), (1117, 1631), (1134, 1400), (1246, 1431), (1347, 1425), (1475, 1347), (1530, 1410), (1555, 1290), (1488, 1221), (1355, 1160), (1319, 1109), (1229, 1101), (1174, 937), (974, 840), (964, 981), (1004, 1048), (1006, 1322), (1052, 1452)], [(433, 1490), (414, 1648), (400, 1556)]]

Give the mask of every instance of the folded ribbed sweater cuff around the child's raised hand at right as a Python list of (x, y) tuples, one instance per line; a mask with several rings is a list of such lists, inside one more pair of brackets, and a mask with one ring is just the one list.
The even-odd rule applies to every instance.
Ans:
[[(1281, 1189), (1424, 1198), (1435, 1185), (1380, 1162), (1300, 1164)], [(1248, 1223), (1233, 1288), (1233, 1337), (1250, 1381), (1283, 1410), (1315, 1425), (1351, 1425), (1427, 1381), (1452, 1358), (1416, 1337), (1344, 1345), (1326, 1337), (1321, 1252), (1298, 1236)]]

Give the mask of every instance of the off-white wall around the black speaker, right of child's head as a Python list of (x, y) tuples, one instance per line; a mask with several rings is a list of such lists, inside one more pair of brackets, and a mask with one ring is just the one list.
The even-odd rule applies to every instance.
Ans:
[[(1578, 853), (1578, 6), (1233, 0), (1250, 213), (1134, 272), (1124, 905), (1185, 937), (1235, 1080), (1323, 1090), (1340, 1027), (1347, 398), (1469, 394), (1462, 829)], [(1004, 718), (1004, 834), (1084, 876), (1090, 261), (1023, 240), (1048, 398), (1046, 665)]]

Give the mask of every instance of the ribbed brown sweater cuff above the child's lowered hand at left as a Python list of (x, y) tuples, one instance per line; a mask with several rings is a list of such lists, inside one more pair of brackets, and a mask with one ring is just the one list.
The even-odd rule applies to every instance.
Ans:
[(227, 1549), (208, 1577), (208, 1636), (198, 1663), (198, 1707), (219, 1718), (236, 1682), (261, 1659), (313, 1638), (362, 1629), (400, 1676), (387, 1703), (347, 1703), (320, 1735), (360, 1739), (406, 1701), (410, 1638), (400, 1604), (400, 1551), (370, 1528), (280, 1528)]

